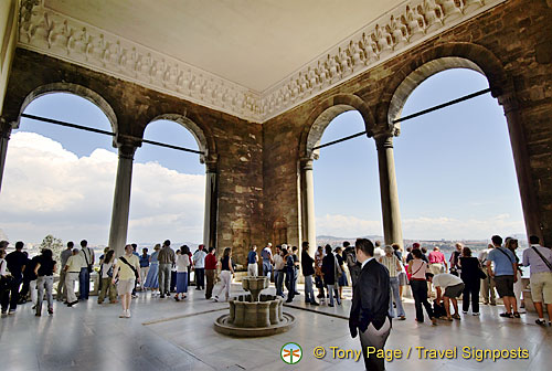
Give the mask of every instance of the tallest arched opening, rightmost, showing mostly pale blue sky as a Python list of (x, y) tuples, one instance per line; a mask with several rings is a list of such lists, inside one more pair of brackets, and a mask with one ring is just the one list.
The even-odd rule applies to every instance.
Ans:
[[(389, 119), (488, 85), (473, 62), (434, 60), (399, 86)], [(394, 151), (406, 243), (466, 240), (477, 251), (493, 234), (526, 239), (508, 126), (490, 94), (403, 123)]]

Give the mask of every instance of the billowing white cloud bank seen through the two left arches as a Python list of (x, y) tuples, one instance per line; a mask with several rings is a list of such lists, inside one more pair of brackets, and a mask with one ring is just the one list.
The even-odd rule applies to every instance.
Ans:
[[(17, 132), (6, 161), (0, 227), (12, 240), (40, 242), (53, 233), (106, 244), (116, 170), (115, 152), (96, 149), (78, 158), (50, 138)], [(204, 181), (157, 162), (135, 162), (129, 241), (200, 242)]]

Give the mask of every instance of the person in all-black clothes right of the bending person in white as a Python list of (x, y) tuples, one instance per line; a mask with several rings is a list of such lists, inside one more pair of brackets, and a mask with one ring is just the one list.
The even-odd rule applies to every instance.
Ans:
[(481, 278), (487, 275), (482, 272), (479, 259), (471, 256), (471, 250), (464, 247), (461, 257), (458, 261), (460, 266), (460, 278), (464, 280), (464, 297), (461, 301), (461, 311), (466, 315), (471, 301), (471, 314), (479, 316), (479, 290), (481, 288)]

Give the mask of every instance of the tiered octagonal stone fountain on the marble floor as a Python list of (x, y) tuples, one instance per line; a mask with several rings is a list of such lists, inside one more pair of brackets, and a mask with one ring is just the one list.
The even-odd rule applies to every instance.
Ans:
[(263, 295), (268, 278), (247, 276), (242, 286), (251, 294), (238, 295), (230, 303), (230, 314), (214, 322), (216, 332), (235, 337), (264, 337), (287, 331), (295, 317), (282, 310), (284, 300), (279, 296)]

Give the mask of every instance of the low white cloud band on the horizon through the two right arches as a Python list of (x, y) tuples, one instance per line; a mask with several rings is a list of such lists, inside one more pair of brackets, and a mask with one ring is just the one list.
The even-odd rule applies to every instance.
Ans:
[[(351, 215), (326, 214), (316, 219), (317, 235), (341, 237), (382, 234), (381, 221), (362, 220)], [(447, 216), (420, 216), (403, 219), (403, 236), (407, 240), (485, 240), (493, 234), (512, 235), (523, 233), (523, 221), (512, 220), (509, 214), (489, 219), (458, 220)]]

